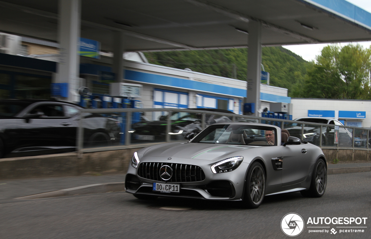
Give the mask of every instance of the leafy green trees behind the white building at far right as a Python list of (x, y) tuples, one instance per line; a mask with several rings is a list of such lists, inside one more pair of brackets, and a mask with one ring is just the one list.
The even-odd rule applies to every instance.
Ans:
[(370, 98), (370, 49), (349, 44), (322, 49), (308, 67), (299, 97), (328, 99)]

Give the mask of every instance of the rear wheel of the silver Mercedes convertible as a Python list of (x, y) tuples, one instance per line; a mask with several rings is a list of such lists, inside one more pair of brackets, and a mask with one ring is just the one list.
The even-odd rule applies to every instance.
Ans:
[(319, 198), (322, 197), (326, 190), (327, 169), (323, 159), (318, 159), (313, 169), (311, 186), (308, 190), (300, 191), (305, 197)]

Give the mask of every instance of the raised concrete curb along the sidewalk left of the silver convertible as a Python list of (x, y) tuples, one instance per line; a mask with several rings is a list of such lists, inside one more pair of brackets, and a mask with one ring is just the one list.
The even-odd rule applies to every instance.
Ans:
[(125, 191), (125, 182), (91, 184), (91, 185), (79, 186), (75, 188), (62, 189), (58, 191), (43, 192), (43, 193), (23, 196), (23, 197), (19, 197), (15, 199), (52, 198), (52, 197), (59, 197), (59, 196), (72, 196), (72, 195), (77, 195), (77, 194), (119, 192), (119, 191)]

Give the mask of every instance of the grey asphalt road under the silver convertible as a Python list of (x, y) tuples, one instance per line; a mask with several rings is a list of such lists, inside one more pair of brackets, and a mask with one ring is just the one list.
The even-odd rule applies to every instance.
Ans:
[[(303, 198), (300, 193), (268, 196), (258, 209), (203, 200), (143, 201), (125, 192), (3, 200), (0, 238), (290, 238), (282, 232), (280, 222), (293, 212), (305, 223), (295, 238), (370, 238), (370, 185), (371, 172), (329, 175), (322, 198)], [(161, 209), (164, 206), (192, 209), (167, 211)], [(367, 219), (365, 225), (363, 221), (360, 225), (308, 225), (309, 217)], [(308, 226), (329, 226), (325, 229), (337, 232), (309, 233), (313, 228)], [(367, 228), (360, 228), (363, 233), (340, 233), (344, 228), (336, 226)]]

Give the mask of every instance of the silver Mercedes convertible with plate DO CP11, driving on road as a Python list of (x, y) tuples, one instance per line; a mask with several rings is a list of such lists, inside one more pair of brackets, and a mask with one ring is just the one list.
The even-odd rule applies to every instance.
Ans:
[(189, 142), (138, 150), (125, 187), (140, 199), (230, 200), (257, 208), (266, 195), (321, 197), (326, 179), (321, 148), (273, 125), (230, 122), (210, 125)]

